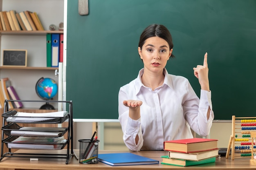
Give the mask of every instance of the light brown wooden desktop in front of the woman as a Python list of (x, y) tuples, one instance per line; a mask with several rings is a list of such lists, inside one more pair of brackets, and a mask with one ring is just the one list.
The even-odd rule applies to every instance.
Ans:
[[(50, 150), (51, 151), (51, 150)], [(74, 150), (76, 155), (79, 157), (79, 150)], [(17, 151), (19, 152), (19, 151)], [(24, 150), (23, 150), (24, 152)], [(29, 152), (29, 150), (27, 150)], [(49, 152), (49, 150), (47, 151)], [(55, 151), (56, 152), (56, 151)], [(58, 153), (65, 153), (66, 150), (58, 150)], [(110, 150), (100, 150), (99, 153), (117, 153), (117, 152), (127, 152), (127, 151), (110, 151)], [(161, 156), (167, 155), (167, 151), (139, 151), (132, 152), (137, 155), (144, 157), (156, 159), (159, 164), (153, 165), (137, 165), (137, 166), (110, 166), (105, 163), (97, 164), (82, 164), (79, 163), (74, 157), (70, 160), (68, 164), (65, 164), (66, 159), (39, 159), (39, 161), (29, 161), (28, 158), (17, 158), (17, 157), (4, 157), (0, 162), (0, 170), (179, 170), (179, 169), (193, 169), (193, 170), (249, 170), (256, 169), (256, 166), (251, 166), (249, 160), (251, 157), (236, 158), (235, 160), (226, 159), (222, 157), (221, 159), (216, 158), (216, 163), (207, 163), (198, 166), (170, 166), (161, 164)], [(9, 168), (9, 169), (8, 169)]]

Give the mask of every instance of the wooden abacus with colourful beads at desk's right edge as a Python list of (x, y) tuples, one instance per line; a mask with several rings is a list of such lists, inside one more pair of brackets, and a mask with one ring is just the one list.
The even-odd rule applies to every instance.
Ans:
[[(230, 135), (226, 158), (231, 157), (234, 160), (235, 157), (253, 157), (253, 153), (256, 152), (256, 146), (253, 146), (255, 144), (251, 139), (254, 132), (256, 133), (256, 117), (232, 116), (232, 134)], [(251, 145), (252, 148), (250, 148)], [(231, 155), (229, 155), (230, 148)]]

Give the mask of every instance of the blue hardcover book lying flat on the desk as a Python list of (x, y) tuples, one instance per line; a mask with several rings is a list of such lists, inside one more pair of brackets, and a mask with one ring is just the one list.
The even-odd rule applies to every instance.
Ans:
[(158, 164), (159, 161), (132, 153), (99, 154), (98, 161), (111, 166)]

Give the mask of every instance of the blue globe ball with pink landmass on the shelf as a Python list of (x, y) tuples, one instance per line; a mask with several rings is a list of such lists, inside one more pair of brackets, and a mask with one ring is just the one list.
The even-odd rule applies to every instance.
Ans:
[(57, 92), (58, 86), (54, 79), (42, 77), (36, 83), (36, 93), (44, 100), (52, 99)]

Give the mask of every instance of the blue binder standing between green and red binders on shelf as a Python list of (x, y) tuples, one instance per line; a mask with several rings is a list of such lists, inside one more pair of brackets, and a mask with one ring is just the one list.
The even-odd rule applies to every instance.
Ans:
[(52, 67), (58, 67), (60, 56), (60, 35), (52, 34)]

